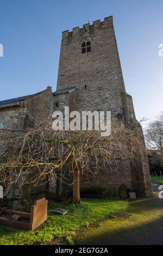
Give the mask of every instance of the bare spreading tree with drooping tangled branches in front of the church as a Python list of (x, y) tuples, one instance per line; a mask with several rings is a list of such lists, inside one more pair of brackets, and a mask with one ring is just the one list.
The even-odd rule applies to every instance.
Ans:
[(45, 182), (53, 186), (57, 170), (65, 168), (72, 174), (72, 203), (79, 204), (80, 174), (97, 174), (102, 169), (109, 172), (120, 161), (134, 163), (146, 152), (137, 124), (130, 129), (112, 118), (111, 127), (108, 137), (102, 137), (101, 131), (54, 131), (51, 123), (28, 131), (0, 130), (0, 181), (5, 193), (18, 180), (33, 186)]

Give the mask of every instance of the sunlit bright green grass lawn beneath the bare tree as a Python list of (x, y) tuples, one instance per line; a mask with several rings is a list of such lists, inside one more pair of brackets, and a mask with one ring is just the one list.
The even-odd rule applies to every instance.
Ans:
[[(54, 238), (73, 243), (73, 236), (82, 227), (103, 220), (107, 215), (127, 208), (128, 202), (111, 199), (83, 199), (82, 204), (49, 202), (48, 221), (34, 231), (22, 231), (0, 225), (0, 245), (31, 245), (46, 243)], [(56, 208), (68, 210), (65, 216), (53, 215)]]

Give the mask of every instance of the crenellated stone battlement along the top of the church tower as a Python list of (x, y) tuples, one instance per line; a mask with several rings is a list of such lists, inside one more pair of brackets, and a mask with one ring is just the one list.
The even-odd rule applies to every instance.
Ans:
[(105, 17), (104, 21), (96, 20), (96, 21), (93, 21), (92, 25), (90, 25), (90, 23), (86, 23), (86, 24), (83, 25), (83, 28), (75, 27), (75, 28), (72, 29), (72, 31), (69, 31), (69, 30), (63, 31), (62, 32), (62, 37), (66, 38), (69, 35), (79, 34), (80, 32), (83, 32), (83, 33), (84, 32), (89, 32), (90, 29), (92, 29), (92, 28), (95, 28), (95, 29), (100, 28), (103, 25), (112, 26), (112, 24), (113, 24), (112, 16)]

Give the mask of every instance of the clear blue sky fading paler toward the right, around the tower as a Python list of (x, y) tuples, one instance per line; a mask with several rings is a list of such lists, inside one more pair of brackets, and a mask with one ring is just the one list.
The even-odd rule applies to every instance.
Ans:
[(56, 88), (61, 32), (113, 15), (137, 119), (163, 110), (162, 0), (0, 0), (0, 100)]

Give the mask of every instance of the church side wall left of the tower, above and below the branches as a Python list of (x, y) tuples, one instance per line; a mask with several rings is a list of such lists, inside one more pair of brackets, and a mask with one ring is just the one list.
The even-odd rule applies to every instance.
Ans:
[[(52, 104), (52, 89), (47, 88), (45, 91), (21, 101), (20, 107), (1, 109), (1, 127), (11, 130), (26, 130), (28, 127), (34, 127), (51, 117)], [(16, 184), (12, 185), (4, 199), (0, 199), (0, 206), (2, 204), (13, 209), (30, 210), (30, 205), (34, 203), (34, 200), (46, 196), (46, 184), (33, 187), (26, 183), (27, 176), (24, 176), (23, 179), (23, 184), (19, 179)]]

